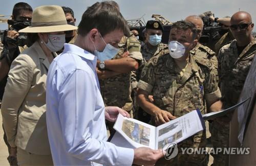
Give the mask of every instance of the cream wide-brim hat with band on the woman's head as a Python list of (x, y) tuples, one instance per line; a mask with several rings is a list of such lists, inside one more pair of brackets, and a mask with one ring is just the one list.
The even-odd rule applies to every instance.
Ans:
[(21, 33), (49, 33), (72, 31), (77, 27), (69, 25), (63, 9), (60, 6), (40, 6), (32, 14), (31, 26), (19, 30)]

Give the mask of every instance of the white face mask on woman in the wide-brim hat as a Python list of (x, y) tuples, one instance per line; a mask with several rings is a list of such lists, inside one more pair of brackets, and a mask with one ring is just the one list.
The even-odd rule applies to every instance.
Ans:
[(42, 40), (42, 42), (52, 52), (59, 51), (61, 48), (63, 48), (64, 43), (66, 42), (65, 34), (62, 34), (62, 35), (48, 35), (48, 42), (45, 43), (44, 40)]

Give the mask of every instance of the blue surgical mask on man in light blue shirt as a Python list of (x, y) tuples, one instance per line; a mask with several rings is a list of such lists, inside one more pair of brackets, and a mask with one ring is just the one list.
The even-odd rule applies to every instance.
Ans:
[[(100, 35), (101, 39), (104, 41), (104, 39), (102, 38), (102, 36)], [(105, 43), (105, 48), (103, 49), (102, 52), (99, 52), (94, 43), (94, 48), (95, 48), (95, 51), (94, 51), (94, 55), (97, 56), (98, 60), (99, 61), (105, 61), (105, 60), (111, 60), (112, 58), (115, 57), (115, 55), (118, 53), (119, 49), (112, 46), (111, 44), (106, 44), (106, 42), (104, 41)]]

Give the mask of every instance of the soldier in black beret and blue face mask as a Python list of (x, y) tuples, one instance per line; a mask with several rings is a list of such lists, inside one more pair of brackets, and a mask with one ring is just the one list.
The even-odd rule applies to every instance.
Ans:
[[(142, 63), (139, 66), (139, 69), (137, 71), (132, 72), (132, 90), (134, 90), (135, 94), (137, 93), (137, 84), (138, 80), (141, 75), (141, 70), (144, 67), (144, 65), (155, 56), (160, 56), (163, 54), (166, 54), (169, 52), (168, 45), (163, 44), (161, 42), (163, 34), (163, 26), (159, 21), (156, 20), (149, 20), (146, 23), (145, 28), (145, 43), (141, 45), (141, 53), (142, 53)], [(158, 40), (158, 41), (156, 41)], [(153, 100), (153, 97), (152, 97)], [(136, 102), (136, 99), (134, 99)], [(143, 109), (136, 106), (136, 119), (139, 119), (140, 121), (143, 121), (147, 123), (150, 120), (150, 115), (148, 115), (146, 112), (144, 112)]]

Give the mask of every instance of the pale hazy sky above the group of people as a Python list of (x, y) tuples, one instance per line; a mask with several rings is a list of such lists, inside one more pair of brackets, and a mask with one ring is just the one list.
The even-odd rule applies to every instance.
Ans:
[[(18, 2), (26, 2), (33, 9), (41, 5), (67, 6), (73, 9), (76, 25), (87, 7), (93, 5), (94, 0), (0, 0), (0, 14), (11, 15), (13, 6)], [(100, 1), (99, 1), (100, 2)], [(161, 14), (169, 21), (175, 22), (188, 15), (198, 15), (206, 11), (215, 13), (215, 17), (232, 16), (239, 11), (251, 14), (252, 22), (256, 23), (256, 0), (116, 0), (125, 19), (136, 19), (143, 15), (145, 21), (151, 20), (152, 14)], [(7, 29), (6, 23), (0, 23), (0, 30)], [(256, 27), (253, 30), (256, 31)]]

